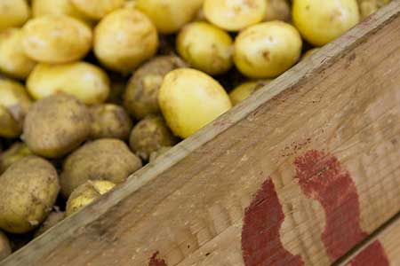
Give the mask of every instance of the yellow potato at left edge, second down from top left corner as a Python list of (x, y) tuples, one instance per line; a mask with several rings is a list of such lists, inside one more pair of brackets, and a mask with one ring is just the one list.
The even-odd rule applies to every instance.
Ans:
[(22, 30), (10, 27), (0, 32), (0, 71), (15, 78), (25, 79), (36, 65), (22, 47)]

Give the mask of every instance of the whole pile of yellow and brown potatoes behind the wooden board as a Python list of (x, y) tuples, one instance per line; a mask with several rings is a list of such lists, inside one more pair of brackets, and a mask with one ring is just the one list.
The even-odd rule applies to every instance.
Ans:
[(0, 0), (0, 260), (388, 0)]

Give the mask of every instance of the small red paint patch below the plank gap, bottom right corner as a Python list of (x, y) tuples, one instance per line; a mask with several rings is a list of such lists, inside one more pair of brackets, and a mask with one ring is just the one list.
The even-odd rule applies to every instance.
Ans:
[(388, 257), (379, 241), (372, 242), (356, 255), (348, 265), (351, 266), (388, 266)]

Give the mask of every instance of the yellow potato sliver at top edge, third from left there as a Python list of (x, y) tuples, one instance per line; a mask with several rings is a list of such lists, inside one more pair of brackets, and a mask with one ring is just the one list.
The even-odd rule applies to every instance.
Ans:
[(100, 20), (124, 5), (124, 0), (69, 0), (76, 9), (93, 20)]

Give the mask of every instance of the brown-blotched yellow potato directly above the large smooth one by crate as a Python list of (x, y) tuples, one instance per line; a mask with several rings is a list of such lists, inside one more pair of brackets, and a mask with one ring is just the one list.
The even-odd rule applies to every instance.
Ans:
[(183, 27), (176, 46), (183, 59), (207, 74), (223, 74), (233, 65), (232, 38), (207, 22), (193, 22)]

